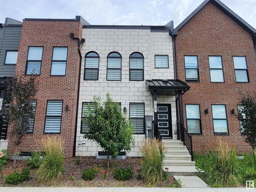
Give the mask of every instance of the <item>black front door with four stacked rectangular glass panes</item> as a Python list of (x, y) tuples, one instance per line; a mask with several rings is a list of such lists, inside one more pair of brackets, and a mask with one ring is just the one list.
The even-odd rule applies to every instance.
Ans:
[(158, 104), (156, 124), (162, 137), (172, 138), (171, 104)]

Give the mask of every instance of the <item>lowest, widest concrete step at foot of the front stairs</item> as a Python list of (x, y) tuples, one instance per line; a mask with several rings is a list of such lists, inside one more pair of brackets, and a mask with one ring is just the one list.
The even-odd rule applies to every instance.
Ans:
[[(164, 168), (168, 168), (168, 174), (171, 174), (172, 176), (196, 176), (197, 170), (196, 166), (164, 166)], [(201, 171), (200, 173), (204, 173), (204, 171)]]

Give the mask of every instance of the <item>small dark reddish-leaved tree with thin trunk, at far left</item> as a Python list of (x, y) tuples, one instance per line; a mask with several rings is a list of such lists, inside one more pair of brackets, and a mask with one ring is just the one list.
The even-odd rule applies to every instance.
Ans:
[(34, 74), (31, 74), (28, 79), (24, 75), (16, 74), (7, 88), (3, 115), (12, 128), (10, 140), (15, 145), (14, 168), (16, 167), (17, 147), (30, 129), (29, 119), (35, 118), (33, 102), (35, 102), (36, 91)]

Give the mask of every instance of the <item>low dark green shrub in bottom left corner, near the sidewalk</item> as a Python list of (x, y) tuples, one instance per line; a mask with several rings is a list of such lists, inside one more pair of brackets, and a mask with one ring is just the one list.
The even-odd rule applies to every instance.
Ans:
[(13, 174), (9, 174), (5, 177), (5, 182), (17, 185), (23, 181), (27, 181), (29, 177), (30, 171), (28, 169), (23, 169), (21, 173), (14, 171)]

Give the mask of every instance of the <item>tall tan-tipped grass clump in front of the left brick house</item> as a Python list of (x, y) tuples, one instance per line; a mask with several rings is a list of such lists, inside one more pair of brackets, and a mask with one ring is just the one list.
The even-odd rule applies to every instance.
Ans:
[(38, 169), (39, 182), (54, 182), (62, 177), (63, 167), (63, 140), (60, 136), (43, 137), (40, 144), (44, 148), (45, 157)]

